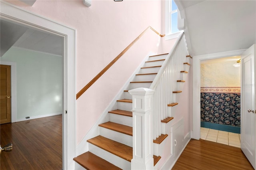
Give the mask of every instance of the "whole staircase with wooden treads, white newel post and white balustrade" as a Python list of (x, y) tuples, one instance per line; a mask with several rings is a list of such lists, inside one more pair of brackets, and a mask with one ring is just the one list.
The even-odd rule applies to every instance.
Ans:
[[(154, 164), (154, 169), (170, 169), (186, 146), (184, 141), (190, 139), (182, 132), (183, 119), (175, 120), (174, 117), (178, 113), (176, 108), (191, 58), (184, 34), (180, 34), (170, 54), (148, 57), (120, 95), (121, 99), (116, 101), (115, 109), (108, 111), (108, 119), (105, 119), (108, 121), (99, 123), (99, 135), (87, 140), (88, 152), (74, 158), (80, 168), (128, 170), (140, 166), (139, 169), (152, 169)], [(150, 98), (138, 96), (143, 95), (144, 90), (148, 91), (145, 94)], [(134, 95), (134, 105), (129, 92)], [(144, 101), (147, 106), (140, 103)], [(143, 110), (142, 105), (146, 109)], [(145, 117), (142, 116), (144, 113)]]

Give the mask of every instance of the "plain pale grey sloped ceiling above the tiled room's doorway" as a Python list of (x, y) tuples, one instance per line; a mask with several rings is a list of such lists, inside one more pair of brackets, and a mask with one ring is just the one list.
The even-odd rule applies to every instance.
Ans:
[(256, 43), (255, 0), (175, 0), (190, 55), (247, 49)]

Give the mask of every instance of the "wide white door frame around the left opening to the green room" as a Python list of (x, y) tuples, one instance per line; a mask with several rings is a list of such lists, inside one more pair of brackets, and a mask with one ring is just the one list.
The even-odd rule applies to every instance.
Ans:
[(1, 19), (62, 37), (62, 168), (64, 170), (74, 169), (73, 158), (76, 156), (76, 30), (5, 1), (0, 2), (0, 9)]

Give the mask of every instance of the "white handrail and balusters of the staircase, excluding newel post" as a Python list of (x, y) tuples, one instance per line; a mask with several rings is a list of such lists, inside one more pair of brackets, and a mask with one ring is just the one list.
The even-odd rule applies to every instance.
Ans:
[(184, 71), (186, 55), (188, 55), (188, 50), (184, 32), (182, 32), (150, 86), (150, 89), (155, 91), (152, 115), (153, 139), (165, 134), (161, 128), (161, 120), (170, 115), (168, 104), (177, 102), (173, 91), (180, 90), (177, 89), (177, 80), (180, 80), (180, 71)]

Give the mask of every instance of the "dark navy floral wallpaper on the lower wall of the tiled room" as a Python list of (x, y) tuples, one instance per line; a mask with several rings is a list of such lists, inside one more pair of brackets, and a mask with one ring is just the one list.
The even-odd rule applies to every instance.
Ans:
[(201, 121), (240, 127), (240, 90), (238, 92), (202, 92)]

